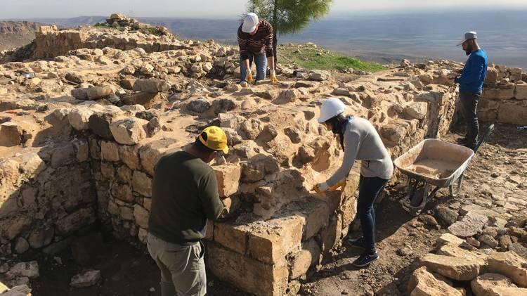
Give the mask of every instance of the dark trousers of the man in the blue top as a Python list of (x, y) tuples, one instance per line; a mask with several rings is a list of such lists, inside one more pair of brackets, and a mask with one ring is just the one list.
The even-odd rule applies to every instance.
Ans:
[(481, 91), (477, 93), (460, 92), (461, 111), (464, 122), (467, 124), (467, 136), (465, 142), (467, 147), (474, 148), (478, 143), (479, 122), (476, 109), (481, 98)]

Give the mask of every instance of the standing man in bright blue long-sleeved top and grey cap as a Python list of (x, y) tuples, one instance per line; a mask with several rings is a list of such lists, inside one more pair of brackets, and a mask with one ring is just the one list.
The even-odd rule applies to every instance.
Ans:
[(479, 134), (479, 123), (476, 114), (478, 101), (481, 98), (483, 82), (487, 75), (487, 53), (478, 45), (476, 32), (466, 32), (460, 44), (469, 56), (460, 77), (450, 77), (460, 84), (460, 101), (464, 121), (467, 123), (467, 136), (461, 143), (468, 148), (476, 148)]

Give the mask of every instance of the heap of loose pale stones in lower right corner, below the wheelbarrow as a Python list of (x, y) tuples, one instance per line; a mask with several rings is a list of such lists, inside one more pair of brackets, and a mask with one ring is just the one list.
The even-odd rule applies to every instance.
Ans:
[(497, 181), (503, 183), (492, 193), (489, 188), (488, 196), (436, 209), (448, 233), (438, 238), (435, 253), (420, 258), (422, 267), (408, 282), (410, 294), (465, 295), (467, 287), (476, 296), (527, 293), (527, 202), (512, 191), (523, 180), (512, 175)]

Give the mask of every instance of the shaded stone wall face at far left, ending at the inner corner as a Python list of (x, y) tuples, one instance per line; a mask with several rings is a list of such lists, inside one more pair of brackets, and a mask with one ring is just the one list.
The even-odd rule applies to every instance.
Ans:
[(28, 148), (0, 161), (0, 255), (64, 250), (97, 220), (88, 142)]

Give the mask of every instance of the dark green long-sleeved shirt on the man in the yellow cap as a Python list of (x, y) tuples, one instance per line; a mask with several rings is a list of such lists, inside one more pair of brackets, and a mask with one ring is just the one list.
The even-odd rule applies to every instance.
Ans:
[(194, 243), (203, 238), (207, 219), (218, 219), (222, 210), (209, 165), (185, 151), (161, 157), (152, 182), (150, 233), (169, 243)]

